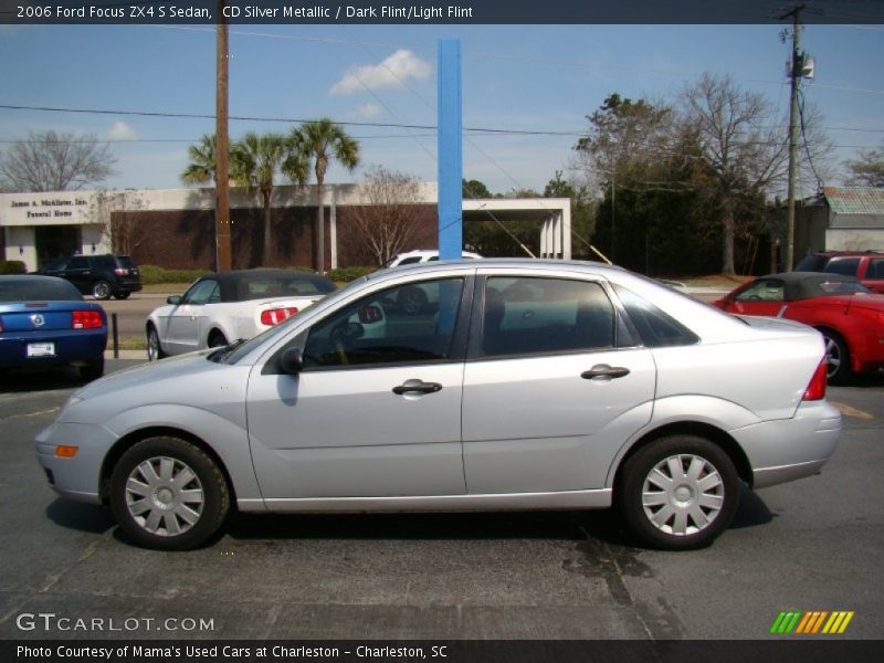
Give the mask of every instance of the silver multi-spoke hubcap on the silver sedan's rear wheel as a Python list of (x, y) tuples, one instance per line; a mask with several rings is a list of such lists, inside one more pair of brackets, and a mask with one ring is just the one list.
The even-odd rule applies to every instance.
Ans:
[(665, 534), (702, 532), (724, 505), (725, 484), (707, 460), (693, 454), (670, 456), (651, 470), (642, 486), (649, 522)]

